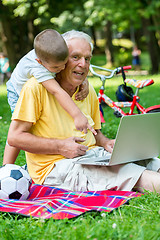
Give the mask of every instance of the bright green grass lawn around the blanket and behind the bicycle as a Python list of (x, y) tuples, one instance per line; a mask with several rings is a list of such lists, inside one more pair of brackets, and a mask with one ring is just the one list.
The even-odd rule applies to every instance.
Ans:
[[(151, 76), (147, 76), (150, 78)], [(136, 77), (144, 79), (146, 77)], [(141, 90), (141, 103), (150, 106), (160, 103), (160, 75), (152, 76), (155, 84)], [(101, 85), (100, 80), (90, 77), (89, 81), (96, 91)], [(106, 93), (115, 98), (117, 86), (121, 83), (120, 77), (115, 77), (106, 82)], [(0, 163), (2, 164), (3, 151), (7, 132), (10, 124), (11, 113), (7, 103), (6, 86), (0, 86)], [(102, 131), (108, 137), (115, 137), (119, 119), (113, 115), (113, 111), (104, 109), (106, 123)], [(19, 165), (25, 163), (24, 152), (16, 162)], [(0, 239), (24, 239), (24, 240), (158, 240), (160, 239), (160, 195), (146, 193), (132, 199), (112, 213), (88, 212), (71, 220), (43, 220), (26, 218), (8, 213), (0, 213)]]

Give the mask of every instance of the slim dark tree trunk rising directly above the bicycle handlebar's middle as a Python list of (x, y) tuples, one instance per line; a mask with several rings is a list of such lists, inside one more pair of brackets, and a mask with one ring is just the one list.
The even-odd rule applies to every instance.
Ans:
[(114, 56), (113, 56), (112, 22), (111, 21), (107, 21), (104, 31), (105, 31), (105, 39), (106, 39), (105, 54), (106, 54), (107, 66), (112, 67), (114, 63)]

